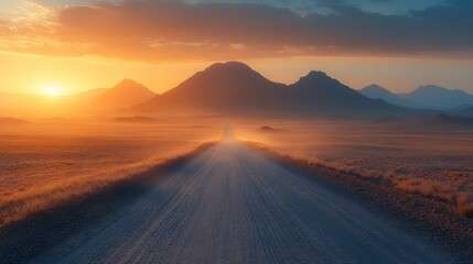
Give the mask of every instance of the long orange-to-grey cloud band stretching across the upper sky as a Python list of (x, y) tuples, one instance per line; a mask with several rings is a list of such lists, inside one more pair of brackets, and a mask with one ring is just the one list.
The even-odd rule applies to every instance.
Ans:
[(404, 15), (368, 13), (342, 2), (330, 8), (333, 12), (301, 15), (250, 3), (125, 0), (68, 6), (49, 31), (37, 33), (44, 36), (34, 38), (41, 38), (41, 45), (10, 48), (151, 63), (307, 55), (472, 56), (473, 7), (465, 1)]

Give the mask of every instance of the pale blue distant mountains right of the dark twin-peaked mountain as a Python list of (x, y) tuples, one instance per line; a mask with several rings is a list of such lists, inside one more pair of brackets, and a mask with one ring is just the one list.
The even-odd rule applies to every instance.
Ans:
[(370, 85), (359, 90), (359, 94), (368, 98), (383, 99), (396, 106), (453, 112), (458, 110), (456, 108), (473, 106), (473, 95), (433, 85), (420, 86), (410, 94), (393, 94), (380, 86)]

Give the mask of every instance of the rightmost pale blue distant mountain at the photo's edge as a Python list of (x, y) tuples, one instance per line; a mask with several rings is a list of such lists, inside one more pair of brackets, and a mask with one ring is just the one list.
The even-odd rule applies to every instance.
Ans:
[(440, 86), (420, 86), (410, 94), (402, 95), (407, 100), (431, 109), (450, 109), (473, 105), (473, 96), (462, 90), (450, 90)]

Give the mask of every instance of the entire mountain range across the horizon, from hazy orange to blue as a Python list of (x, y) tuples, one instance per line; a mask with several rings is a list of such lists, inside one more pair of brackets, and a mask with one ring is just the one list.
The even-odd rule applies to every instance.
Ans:
[[(450, 109), (455, 116), (469, 117), (473, 112), (470, 103), (473, 105), (473, 96), (436, 86), (423, 86), (407, 95), (396, 95), (377, 85), (356, 91), (316, 70), (284, 85), (237, 62), (214, 64), (162, 95), (131, 79), (112, 88), (56, 98), (0, 92), (0, 109), (44, 117), (77, 113), (386, 117), (445, 112), (423, 109)], [(7, 110), (1, 114), (13, 116)]]

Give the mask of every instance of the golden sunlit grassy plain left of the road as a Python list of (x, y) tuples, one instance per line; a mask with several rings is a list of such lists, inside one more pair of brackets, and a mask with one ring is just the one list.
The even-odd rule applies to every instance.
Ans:
[[(96, 191), (218, 140), (215, 122), (40, 120), (0, 131), (0, 223)], [(0, 224), (0, 226), (1, 226)]]

